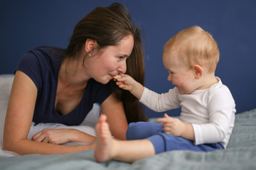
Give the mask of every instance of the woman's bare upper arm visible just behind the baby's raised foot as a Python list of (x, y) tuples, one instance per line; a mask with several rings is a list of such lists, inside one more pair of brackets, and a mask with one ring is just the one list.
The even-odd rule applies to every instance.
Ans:
[(122, 101), (118, 101), (112, 94), (101, 107), (102, 113), (107, 115), (107, 123), (110, 125), (112, 135), (119, 140), (126, 140), (128, 123)]

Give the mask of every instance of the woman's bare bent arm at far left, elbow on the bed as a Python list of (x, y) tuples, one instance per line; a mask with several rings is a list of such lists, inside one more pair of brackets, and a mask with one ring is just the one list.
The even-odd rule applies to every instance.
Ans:
[(92, 149), (94, 145), (62, 146), (27, 140), (33, 119), (37, 89), (23, 72), (14, 77), (4, 126), (4, 149), (18, 154), (65, 154)]

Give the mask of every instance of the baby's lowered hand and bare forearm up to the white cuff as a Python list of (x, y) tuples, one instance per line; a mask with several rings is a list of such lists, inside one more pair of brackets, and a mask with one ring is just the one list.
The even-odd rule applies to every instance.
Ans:
[(178, 118), (171, 118), (166, 113), (164, 114), (164, 118), (159, 118), (157, 121), (163, 123), (163, 130), (167, 134), (183, 137), (187, 140), (195, 140), (193, 126), (191, 124), (183, 123)]

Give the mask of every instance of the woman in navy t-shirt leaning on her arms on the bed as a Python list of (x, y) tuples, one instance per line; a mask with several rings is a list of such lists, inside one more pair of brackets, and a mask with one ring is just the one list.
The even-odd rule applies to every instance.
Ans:
[(112, 135), (125, 140), (129, 122), (146, 120), (137, 99), (111, 82), (125, 72), (144, 84), (139, 30), (122, 4), (97, 7), (75, 26), (67, 49), (38, 47), (22, 57), (6, 113), (4, 149), (18, 154), (94, 149), (94, 143), (59, 145), (95, 141), (74, 129), (42, 130), (27, 140), (32, 122), (80, 125), (93, 103), (109, 118)]

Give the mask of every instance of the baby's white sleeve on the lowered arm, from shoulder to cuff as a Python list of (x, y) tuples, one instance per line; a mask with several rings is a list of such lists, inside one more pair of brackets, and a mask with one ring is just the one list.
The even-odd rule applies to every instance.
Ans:
[(223, 141), (231, 133), (235, 116), (233, 96), (227, 86), (217, 86), (213, 91), (208, 95), (209, 123), (193, 124), (196, 145)]

